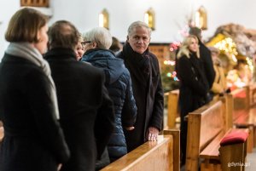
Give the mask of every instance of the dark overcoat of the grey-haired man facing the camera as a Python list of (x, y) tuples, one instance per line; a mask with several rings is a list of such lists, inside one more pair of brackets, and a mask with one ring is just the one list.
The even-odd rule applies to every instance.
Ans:
[[(124, 49), (117, 55), (125, 61), (125, 66), (131, 74), (131, 85), (137, 105), (137, 121), (135, 129), (125, 131), (128, 151), (147, 141), (148, 127), (161, 130), (163, 124), (163, 88), (160, 77), (160, 67), (156, 56), (146, 50), (144, 54), (138, 54), (132, 50), (129, 43), (125, 43)], [(144, 68), (137, 62), (137, 58), (148, 58), (147, 75)]]

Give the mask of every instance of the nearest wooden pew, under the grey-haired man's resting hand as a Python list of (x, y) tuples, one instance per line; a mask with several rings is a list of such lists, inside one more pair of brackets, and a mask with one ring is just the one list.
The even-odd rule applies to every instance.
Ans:
[(179, 171), (179, 130), (164, 130), (158, 141), (148, 141), (101, 171)]

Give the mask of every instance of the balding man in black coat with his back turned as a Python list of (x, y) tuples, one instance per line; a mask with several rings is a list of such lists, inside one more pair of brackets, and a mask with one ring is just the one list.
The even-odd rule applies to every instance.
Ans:
[(49, 52), (45, 54), (55, 81), (60, 123), (70, 160), (61, 170), (94, 171), (113, 131), (113, 102), (104, 87), (102, 71), (76, 60), (79, 31), (66, 20), (49, 27)]

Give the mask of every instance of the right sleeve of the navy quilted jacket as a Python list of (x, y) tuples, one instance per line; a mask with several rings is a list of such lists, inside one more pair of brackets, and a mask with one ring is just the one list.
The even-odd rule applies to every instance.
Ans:
[(137, 106), (133, 97), (133, 91), (131, 88), (130, 72), (126, 72), (127, 87), (125, 90), (125, 103), (122, 109), (122, 124), (123, 127), (131, 127), (136, 122), (137, 118)]

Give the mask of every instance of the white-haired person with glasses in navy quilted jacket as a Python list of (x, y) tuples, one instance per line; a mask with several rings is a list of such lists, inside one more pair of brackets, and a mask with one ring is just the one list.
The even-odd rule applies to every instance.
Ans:
[[(115, 57), (108, 48), (111, 46), (110, 32), (103, 27), (96, 27), (84, 34), (87, 42), (82, 61), (101, 68), (106, 76), (105, 85), (114, 104), (115, 128), (108, 143), (110, 162), (127, 153), (124, 129), (128, 132), (134, 127), (137, 106), (131, 88), (131, 77), (124, 61)], [(98, 162), (99, 163), (99, 162)], [(97, 168), (102, 166), (97, 165)]]

